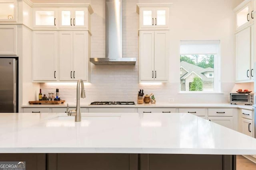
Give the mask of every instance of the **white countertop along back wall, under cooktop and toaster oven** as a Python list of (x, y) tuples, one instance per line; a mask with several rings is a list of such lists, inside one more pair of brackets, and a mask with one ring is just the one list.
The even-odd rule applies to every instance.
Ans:
[[(76, 103), (68, 103), (69, 107), (76, 107)], [(201, 104), (201, 103), (156, 103), (156, 104), (135, 104), (135, 105), (90, 105), (90, 103), (81, 103), (81, 107), (230, 107), (230, 108), (242, 108), (252, 109), (252, 105), (234, 105), (230, 103), (214, 103), (214, 104)], [(23, 105), (22, 107), (67, 107), (67, 103), (64, 104), (32, 104)]]

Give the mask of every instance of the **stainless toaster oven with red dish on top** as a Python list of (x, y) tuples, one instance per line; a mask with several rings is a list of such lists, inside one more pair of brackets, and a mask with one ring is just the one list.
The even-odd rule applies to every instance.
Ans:
[(230, 104), (253, 105), (254, 94), (249, 93), (230, 93)]

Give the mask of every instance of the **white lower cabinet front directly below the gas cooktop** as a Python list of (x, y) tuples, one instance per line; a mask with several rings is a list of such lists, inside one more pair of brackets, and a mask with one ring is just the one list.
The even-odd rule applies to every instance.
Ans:
[(89, 108), (89, 113), (136, 113), (135, 108)]

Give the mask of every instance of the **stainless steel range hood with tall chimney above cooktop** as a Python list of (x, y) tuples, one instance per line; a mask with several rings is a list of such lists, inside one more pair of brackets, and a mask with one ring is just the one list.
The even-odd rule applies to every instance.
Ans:
[(136, 58), (122, 58), (122, 0), (106, 0), (106, 57), (90, 58), (95, 65), (135, 65)]

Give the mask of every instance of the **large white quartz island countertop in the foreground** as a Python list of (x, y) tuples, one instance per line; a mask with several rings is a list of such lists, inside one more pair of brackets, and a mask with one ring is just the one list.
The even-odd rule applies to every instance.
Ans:
[(256, 139), (190, 113), (1, 113), (0, 153), (256, 154)]

